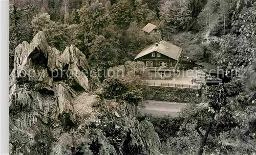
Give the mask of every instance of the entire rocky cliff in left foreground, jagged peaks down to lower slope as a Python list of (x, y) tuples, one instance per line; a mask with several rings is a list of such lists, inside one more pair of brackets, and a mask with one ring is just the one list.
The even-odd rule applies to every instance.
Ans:
[(10, 154), (161, 154), (150, 122), (93, 95), (100, 82), (74, 45), (51, 48), (42, 32), (19, 44), (9, 85)]

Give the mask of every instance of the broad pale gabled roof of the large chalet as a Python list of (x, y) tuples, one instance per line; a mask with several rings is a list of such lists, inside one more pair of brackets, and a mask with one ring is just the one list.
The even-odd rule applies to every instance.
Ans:
[[(145, 47), (140, 51), (140, 53), (136, 56), (135, 59), (138, 59), (142, 56), (145, 56), (147, 54), (152, 53), (153, 51), (157, 51), (158, 53), (165, 55), (167, 57), (173, 58), (175, 60), (178, 60), (180, 57), (182, 48), (178, 47), (172, 43), (169, 43), (167, 41), (160, 41), (158, 45), (152, 44), (150, 46)], [(135, 60), (134, 59), (134, 60)]]

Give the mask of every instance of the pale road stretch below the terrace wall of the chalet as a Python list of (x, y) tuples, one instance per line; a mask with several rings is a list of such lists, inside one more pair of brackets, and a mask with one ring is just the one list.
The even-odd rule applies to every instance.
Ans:
[[(169, 116), (177, 117), (181, 109), (188, 106), (188, 103), (179, 102), (167, 102), (167, 101), (156, 101), (156, 100), (145, 100), (145, 109), (141, 109), (142, 114), (148, 114), (153, 116)], [(205, 105), (205, 104), (200, 104)], [(207, 106), (207, 105), (205, 105)]]

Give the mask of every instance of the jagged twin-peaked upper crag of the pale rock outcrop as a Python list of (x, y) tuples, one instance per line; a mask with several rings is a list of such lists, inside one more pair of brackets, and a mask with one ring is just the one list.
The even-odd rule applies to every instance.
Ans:
[(65, 80), (68, 76), (74, 85), (88, 91), (88, 77), (83, 72), (89, 72), (89, 69), (86, 56), (73, 44), (67, 46), (62, 53), (56, 48), (51, 48), (44, 33), (38, 32), (30, 44), (24, 41), (15, 48), (10, 85), (13, 85), (16, 79), (52, 85), (51, 80)]

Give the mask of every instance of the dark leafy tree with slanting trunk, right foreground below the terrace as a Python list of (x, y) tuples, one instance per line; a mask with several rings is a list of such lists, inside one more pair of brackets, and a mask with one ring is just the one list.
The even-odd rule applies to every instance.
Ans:
[(234, 118), (238, 107), (234, 101), (243, 92), (241, 88), (242, 81), (239, 79), (209, 87), (205, 93), (208, 106), (192, 105), (182, 112), (184, 122), (177, 133), (178, 137), (168, 143), (169, 147), (179, 148), (170, 151), (203, 154), (204, 151), (211, 153), (215, 148), (219, 148), (214, 137), (238, 126), (239, 122)]

